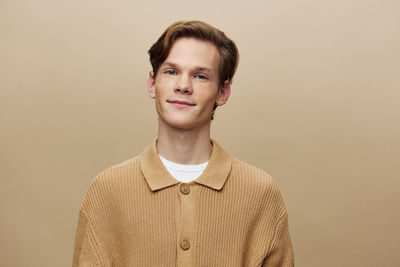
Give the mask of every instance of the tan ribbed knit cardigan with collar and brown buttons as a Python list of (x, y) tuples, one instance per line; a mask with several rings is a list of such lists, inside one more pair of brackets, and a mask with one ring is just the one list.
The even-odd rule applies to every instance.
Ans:
[(212, 143), (207, 168), (190, 183), (168, 173), (156, 140), (96, 176), (73, 266), (293, 266), (277, 184)]

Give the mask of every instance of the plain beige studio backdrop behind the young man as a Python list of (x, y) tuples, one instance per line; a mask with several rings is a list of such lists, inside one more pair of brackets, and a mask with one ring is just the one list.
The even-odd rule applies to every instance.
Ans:
[(400, 2), (157, 2), (0, 2), (0, 265), (71, 265), (89, 182), (156, 135), (148, 48), (200, 19), (241, 53), (212, 135), (278, 181), (296, 266), (400, 266)]

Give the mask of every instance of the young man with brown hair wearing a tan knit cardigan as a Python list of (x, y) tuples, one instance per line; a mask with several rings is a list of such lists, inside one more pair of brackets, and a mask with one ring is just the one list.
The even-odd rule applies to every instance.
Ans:
[(236, 45), (186, 21), (149, 54), (158, 138), (92, 181), (73, 266), (293, 266), (276, 183), (210, 139), (213, 112), (230, 96)]

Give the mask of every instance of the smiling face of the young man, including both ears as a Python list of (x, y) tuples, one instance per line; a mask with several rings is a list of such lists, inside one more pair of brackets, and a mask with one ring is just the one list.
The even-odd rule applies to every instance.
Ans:
[(211, 42), (175, 41), (156, 79), (150, 73), (147, 83), (160, 123), (185, 130), (210, 123), (214, 104), (225, 104), (230, 94), (228, 81), (219, 88), (218, 64), (219, 52)]

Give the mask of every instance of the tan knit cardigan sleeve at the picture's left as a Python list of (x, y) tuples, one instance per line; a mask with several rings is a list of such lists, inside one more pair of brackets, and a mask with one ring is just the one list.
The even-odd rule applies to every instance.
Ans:
[(74, 256), (72, 267), (105, 266), (101, 248), (88, 215), (79, 211), (78, 226), (75, 235)]

